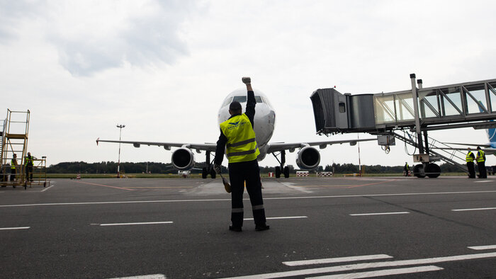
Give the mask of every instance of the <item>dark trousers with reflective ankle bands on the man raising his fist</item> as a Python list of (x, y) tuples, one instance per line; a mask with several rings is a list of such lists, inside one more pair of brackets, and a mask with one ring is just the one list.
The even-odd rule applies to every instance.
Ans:
[(256, 225), (265, 225), (264, 199), (261, 196), (260, 169), (257, 160), (230, 163), (229, 178), (231, 182), (231, 222), (232, 227), (243, 226), (243, 192), (244, 181), (247, 183), (249, 201), (252, 203), (253, 218)]

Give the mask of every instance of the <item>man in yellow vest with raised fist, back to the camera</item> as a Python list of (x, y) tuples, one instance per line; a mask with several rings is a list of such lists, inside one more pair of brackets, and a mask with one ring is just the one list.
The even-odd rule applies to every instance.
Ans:
[[(224, 149), (227, 150), (229, 160), (229, 178), (231, 181), (231, 231), (241, 232), (243, 226), (243, 191), (244, 181), (252, 203), (252, 212), (255, 222), (255, 230), (264, 231), (269, 229), (266, 225), (264, 200), (261, 195), (260, 169), (257, 156), (260, 154), (255, 140), (254, 116), (255, 96), (252, 89), (251, 79), (242, 78), (247, 86), (247, 108), (242, 113), (241, 104), (233, 101), (229, 106), (231, 117), (220, 123), (220, 136), (215, 150), (214, 169), (220, 173), (220, 165), (224, 159)], [(226, 148), (227, 147), (227, 148)]]

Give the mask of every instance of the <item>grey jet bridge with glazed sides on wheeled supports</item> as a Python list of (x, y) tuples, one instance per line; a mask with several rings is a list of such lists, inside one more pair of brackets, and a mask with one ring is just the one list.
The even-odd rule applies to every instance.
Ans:
[[(382, 136), (386, 150), (398, 138), (419, 149), (414, 159), (422, 162), (423, 167), (417, 168), (414, 174), (436, 177), (436, 172), (425, 170), (429, 169), (429, 162), (456, 161), (430, 150), (436, 146), (429, 146), (427, 131), (496, 126), (496, 122), (488, 122), (496, 119), (496, 79), (429, 88), (423, 88), (422, 79), (417, 80), (415, 74), (410, 74), (410, 80), (412, 89), (390, 93), (351, 95), (336, 89), (317, 89), (310, 96), (317, 134), (368, 132)], [(417, 138), (407, 139), (395, 133), (405, 129), (415, 132)], [(462, 164), (456, 165), (466, 170)]]

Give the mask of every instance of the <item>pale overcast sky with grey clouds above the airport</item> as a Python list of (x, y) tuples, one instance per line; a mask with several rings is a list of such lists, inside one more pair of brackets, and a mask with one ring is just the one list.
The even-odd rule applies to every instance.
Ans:
[[(478, 0), (0, 0), (0, 117), (30, 110), (28, 147), (48, 164), (117, 161), (118, 144), (95, 143), (118, 139), (117, 124), (123, 140), (215, 142), (220, 103), (252, 76), (276, 108), (273, 141), (371, 137), (315, 135), (310, 94), (406, 90), (411, 73), (424, 87), (494, 79), (495, 14), (495, 1)], [(429, 135), (487, 142), (471, 128)], [(401, 142), (390, 154), (376, 142), (360, 151), (362, 164), (412, 164)], [(359, 161), (349, 145), (321, 155), (324, 166)], [(123, 145), (120, 159), (170, 157)]]

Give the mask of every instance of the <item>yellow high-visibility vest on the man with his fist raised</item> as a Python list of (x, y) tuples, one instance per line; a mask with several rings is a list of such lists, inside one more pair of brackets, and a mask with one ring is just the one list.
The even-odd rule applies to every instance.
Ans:
[(247, 115), (236, 115), (220, 123), (220, 130), (227, 137), (227, 159), (230, 163), (257, 159), (260, 151)]

